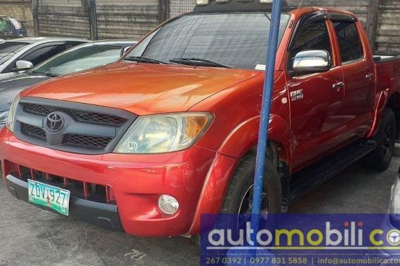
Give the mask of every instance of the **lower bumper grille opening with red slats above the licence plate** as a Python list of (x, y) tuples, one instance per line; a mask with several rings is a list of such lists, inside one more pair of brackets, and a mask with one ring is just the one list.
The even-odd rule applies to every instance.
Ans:
[(13, 176), (18, 177), (22, 181), (27, 182), (28, 179), (31, 179), (50, 186), (69, 190), (72, 197), (90, 200), (91, 202), (116, 204), (114, 193), (109, 186), (67, 179), (62, 176), (40, 172), (36, 169), (31, 169), (22, 165), (16, 165), (9, 161), (5, 161), (5, 164), (6, 169), (8, 169), (6, 174), (13, 174)]

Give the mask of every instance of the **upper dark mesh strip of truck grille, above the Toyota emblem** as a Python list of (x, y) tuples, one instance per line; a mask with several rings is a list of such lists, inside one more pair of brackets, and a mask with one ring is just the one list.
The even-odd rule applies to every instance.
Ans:
[(24, 110), (27, 113), (33, 113), (39, 116), (48, 116), (54, 111), (65, 111), (71, 114), (76, 120), (88, 123), (100, 123), (105, 125), (122, 125), (126, 119), (118, 116), (110, 116), (104, 113), (93, 113), (88, 111), (66, 110), (53, 106), (44, 106), (39, 104), (25, 104)]

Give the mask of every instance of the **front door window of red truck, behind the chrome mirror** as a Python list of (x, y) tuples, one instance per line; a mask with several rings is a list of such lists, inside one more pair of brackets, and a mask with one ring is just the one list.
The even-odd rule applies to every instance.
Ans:
[(304, 50), (326, 50), (332, 55), (331, 39), (329, 38), (326, 21), (308, 23), (300, 29), (300, 34), (295, 36), (290, 51), (288, 62), (289, 71), (293, 68), (293, 59), (295, 55)]

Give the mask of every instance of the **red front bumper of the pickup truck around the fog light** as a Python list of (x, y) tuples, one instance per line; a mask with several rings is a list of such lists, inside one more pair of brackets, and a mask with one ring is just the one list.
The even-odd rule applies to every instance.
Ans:
[[(119, 230), (116, 225), (119, 222), (111, 214), (116, 209), (121, 230), (140, 237), (169, 237), (189, 232), (215, 154), (214, 151), (194, 146), (186, 151), (164, 155), (80, 155), (27, 144), (16, 139), (6, 128), (0, 132), (3, 177), (11, 193), (15, 191), (14, 195), (21, 200), (27, 197), (23, 184), (19, 182), (21, 179), (7, 178), (15, 172), (15, 165), (72, 181), (104, 186), (112, 191), (114, 209), (107, 207), (104, 212), (104, 205), (91, 203), (87, 209), (87, 199), (80, 198), (70, 206), (76, 209), (74, 216), (94, 224), (99, 224), (100, 217), (100, 225), (104, 222), (102, 218), (106, 218), (113, 229)], [(174, 216), (162, 214), (157, 207), (162, 194), (171, 195), (180, 203), (180, 209)], [(86, 212), (93, 214), (90, 217), (80, 215)], [(107, 226), (110, 227), (103, 227)]]

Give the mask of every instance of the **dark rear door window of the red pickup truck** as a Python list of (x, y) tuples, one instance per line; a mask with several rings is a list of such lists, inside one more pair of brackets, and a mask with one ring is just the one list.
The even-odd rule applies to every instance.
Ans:
[(361, 59), (364, 52), (356, 24), (354, 22), (333, 22), (333, 25), (338, 36), (342, 62)]

